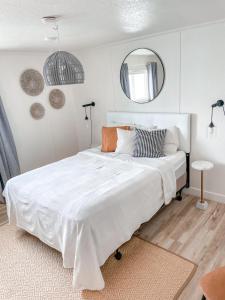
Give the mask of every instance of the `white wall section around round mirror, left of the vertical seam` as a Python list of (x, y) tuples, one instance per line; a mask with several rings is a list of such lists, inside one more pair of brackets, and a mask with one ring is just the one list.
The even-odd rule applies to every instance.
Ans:
[[(167, 47), (165, 47), (167, 45)], [(163, 58), (166, 66), (165, 86), (157, 99), (147, 104), (130, 101), (120, 86), (120, 66), (124, 57), (131, 50), (139, 47), (152, 48)], [(172, 33), (160, 37), (152, 37), (140, 41), (127, 42), (113, 47), (83, 50), (79, 58), (85, 69), (85, 84), (77, 89), (77, 97), (82, 103), (94, 99), (93, 110), (95, 144), (101, 142), (101, 127), (106, 123), (106, 112), (121, 111), (170, 111), (178, 112), (180, 51), (179, 34)], [(87, 135), (87, 128), (81, 111), (80, 130)], [(85, 136), (85, 135), (83, 135)], [(88, 140), (80, 140), (80, 149), (88, 146)]]

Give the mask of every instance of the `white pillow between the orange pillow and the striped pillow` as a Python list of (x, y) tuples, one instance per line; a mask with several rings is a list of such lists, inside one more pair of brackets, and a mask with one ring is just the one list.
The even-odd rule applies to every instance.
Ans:
[(134, 151), (135, 131), (117, 128), (117, 137), (116, 152), (132, 155)]

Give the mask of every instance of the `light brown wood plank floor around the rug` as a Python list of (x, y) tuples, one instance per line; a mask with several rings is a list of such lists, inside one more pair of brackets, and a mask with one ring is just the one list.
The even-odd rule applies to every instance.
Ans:
[[(199, 278), (217, 266), (225, 265), (225, 205), (209, 201), (206, 211), (195, 208), (196, 198), (163, 208), (141, 226), (142, 238), (160, 245), (198, 265), (192, 281), (179, 299), (200, 300)], [(0, 204), (0, 224), (6, 221), (5, 206)]]

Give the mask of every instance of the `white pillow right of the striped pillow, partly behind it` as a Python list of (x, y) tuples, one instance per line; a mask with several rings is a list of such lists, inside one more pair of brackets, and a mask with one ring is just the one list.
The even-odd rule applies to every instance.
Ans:
[(176, 126), (169, 127), (166, 132), (163, 153), (165, 155), (174, 154), (179, 148), (179, 132)]

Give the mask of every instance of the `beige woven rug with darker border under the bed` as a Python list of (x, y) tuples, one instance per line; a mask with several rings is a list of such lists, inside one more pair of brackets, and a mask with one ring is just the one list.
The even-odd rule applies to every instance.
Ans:
[(111, 256), (102, 268), (106, 288), (79, 292), (72, 270), (60, 253), (11, 225), (0, 227), (0, 299), (175, 299), (196, 266), (137, 237), (122, 246), (123, 258)]

